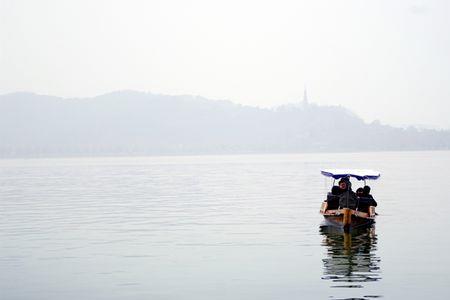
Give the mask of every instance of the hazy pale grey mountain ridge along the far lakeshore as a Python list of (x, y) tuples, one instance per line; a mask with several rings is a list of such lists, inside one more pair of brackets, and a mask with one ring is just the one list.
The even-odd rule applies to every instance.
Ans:
[(450, 149), (450, 131), (365, 123), (345, 108), (276, 109), (134, 91), (0, 96), (0, 157)]

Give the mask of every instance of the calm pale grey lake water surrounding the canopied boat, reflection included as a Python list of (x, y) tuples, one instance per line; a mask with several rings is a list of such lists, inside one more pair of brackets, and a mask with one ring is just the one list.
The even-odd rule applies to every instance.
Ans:
[[(382, 173), (375, 228), (321, 228), (339, 167)], [(449, 170), (450, 152), (0, 160), (0, 298), (446, 299)]]

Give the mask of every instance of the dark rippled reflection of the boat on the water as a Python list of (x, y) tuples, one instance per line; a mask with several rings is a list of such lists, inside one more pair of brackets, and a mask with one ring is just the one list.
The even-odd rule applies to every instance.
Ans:
[[(364, 288), (369, 282), (381, 279), (380, 257), (375, 254), (377, 235), (374, 227), (346, 233), (322, 226), (320, 234), (323, 235), (322, 245), (327, 249), (322, 279), (331, 280), (332, 288)], [(364, 295), (358, 299), (378, 297), (381, 296)]]

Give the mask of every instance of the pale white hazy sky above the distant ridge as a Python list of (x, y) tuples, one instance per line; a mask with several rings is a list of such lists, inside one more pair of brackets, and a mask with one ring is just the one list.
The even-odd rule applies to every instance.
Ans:
[(0, 94), (343, 105), (450, 128), (450, 1), (0, 0)]

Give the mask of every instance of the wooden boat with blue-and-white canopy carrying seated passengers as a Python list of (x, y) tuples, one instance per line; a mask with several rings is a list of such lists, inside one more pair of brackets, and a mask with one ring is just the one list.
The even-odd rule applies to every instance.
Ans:
[[(349, 231), (352, 228), (361, 228), (371, 226), (375, 223), (375, 206), (376, 203), (370, 195), (356, 196), (351, 191), (351, 178), (358, 181), (364, 181), (366, 186), (367, 180), (377, 180), (380, 173), (374, 170), (359, 169), (327, 169), (321, 171), (322, 175), (333, 178), (332, 191), (339, 190), (338, 194), (329, 192), (327, 199), (322, 202), (320, 214), (325, 218), (328, 226), (334, 226)], [(345, 190), (336, 186), (336, 180), (346, 182)], [(344, 186), (344, 185), (343, 185)]]

